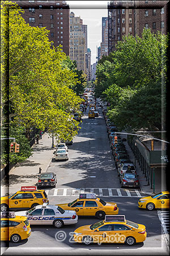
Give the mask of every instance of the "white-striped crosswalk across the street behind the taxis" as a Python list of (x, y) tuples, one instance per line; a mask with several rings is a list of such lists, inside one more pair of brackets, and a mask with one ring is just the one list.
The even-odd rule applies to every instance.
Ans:
[[(67, 195), (67, 191), (69, 191), (72, 189), (71, 193), (69, 192), (68, 195)], [(79, 193), (94, 193), (94, 189), (97, 189), (99, 191), (99, 193), (96, 193), (96, 196), (103, 196), (103, 197), (142, 197), (141, 193), (139, 193), (139, 191), (135, 190), (135, 193), (136, 193), (136, 196), (135, 195), (131, 195), (129, 189), (120, 189), (120, 188), (55, 188), (55, 189), (51, 189), (50, 190), (50, 195), (49, 194), (49, 190), (46, 190), (46, 195), (48, 195), (48, 197), (50, 196), (76, 196), (78, 197)], [(108, 191), (108, 195), (107, 196), (104, 196), (103, 195), (103, 189), (104, 191)], [(58, 191), (59, 191), (59, 194), (58, 195)], [(89, 192), (87, 192), (89, 191)], [(114, 195), (116, 193), (113, 193), (113, 191), (116, 191), (117, 192), (117, 195)], [(126, 195), (122, 195), (121, 192), (126, 192)], [(52, 192), (53, 192), (53, 195), (52, 195)], [(131, 192), (134, 192), (131, 191)]]

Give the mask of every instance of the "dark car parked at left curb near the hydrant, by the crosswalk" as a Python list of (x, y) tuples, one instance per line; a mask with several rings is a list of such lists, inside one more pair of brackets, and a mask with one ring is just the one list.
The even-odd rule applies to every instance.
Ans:
[(57, 176), (54, 172), (42, 172), (39, 176), (37, 187), (52, 186), (56, 187)]

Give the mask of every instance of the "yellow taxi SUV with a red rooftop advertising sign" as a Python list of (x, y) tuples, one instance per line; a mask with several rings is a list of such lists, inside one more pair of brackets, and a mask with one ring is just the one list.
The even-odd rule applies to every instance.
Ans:
[(37, 190), (36, 186), (23, 186), (14, 195), (1, 197), (1, 212), (16, 208), (29, 209), (48, 202), (44, 190)]

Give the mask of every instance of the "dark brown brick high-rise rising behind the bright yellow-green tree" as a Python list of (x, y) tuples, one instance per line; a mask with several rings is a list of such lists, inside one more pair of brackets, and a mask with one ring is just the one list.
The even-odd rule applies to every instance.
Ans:
[(62, 45), (69, 55), (69, 5), (66, 1), (12, 1), (24, 10), (26, 23), (32, 27), (46, 27), (54, 47)]

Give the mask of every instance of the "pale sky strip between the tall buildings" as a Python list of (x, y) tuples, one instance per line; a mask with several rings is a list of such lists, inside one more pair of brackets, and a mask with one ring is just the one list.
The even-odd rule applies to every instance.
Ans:
[(66, 1), (70, 11), (87, 25), (87, 47), (91, 49), (91, 64), (96, 62), (96, 46), (101, 43), (101, 19), (108, 16), (109, 1)]

